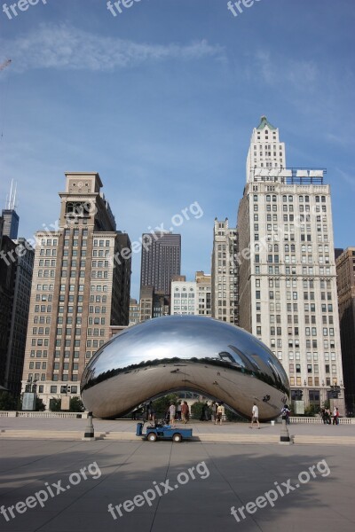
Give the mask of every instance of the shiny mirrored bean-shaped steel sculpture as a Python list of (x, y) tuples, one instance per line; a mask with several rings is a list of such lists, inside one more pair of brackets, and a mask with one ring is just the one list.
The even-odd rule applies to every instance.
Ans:
[(288, 377), (263, 342), (211, 317), (158, 317), (125, 329), (92, 357), (83, 372), (85, 407), (117, 418), (177, 390), (222, 401), (243, 417), (255, 402), (259, 419), (288, 403)]

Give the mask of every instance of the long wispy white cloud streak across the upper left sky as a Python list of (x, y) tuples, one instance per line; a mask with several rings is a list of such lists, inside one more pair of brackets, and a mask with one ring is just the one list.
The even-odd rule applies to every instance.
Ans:
[(222, 47), (206, 40), (187, 45), (134, 43), (67, 24), (42, 24), (28, 35), (1, 39), (0, 48), (4, 58), (12, 58), (12, 71), (17, 72), (34, 68), (113, 71), (146, 61), (222, 59), (224, 55)]

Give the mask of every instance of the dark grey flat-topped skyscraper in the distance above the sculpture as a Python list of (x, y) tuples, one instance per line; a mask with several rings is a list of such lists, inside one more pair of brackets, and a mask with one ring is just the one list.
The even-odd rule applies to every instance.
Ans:
[(154, 286), (155, 291), (170, 295), (171, 278), (180, 274), (181, 235), (144, 233), (142, 241), (140, 286)]

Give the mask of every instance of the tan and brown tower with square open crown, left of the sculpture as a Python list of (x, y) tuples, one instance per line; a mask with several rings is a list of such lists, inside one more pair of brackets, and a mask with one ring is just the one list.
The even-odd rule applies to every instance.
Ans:
[(130, 239), (116, 231), (101, 187), (96, 172), (66, 173), (58, 229), (36, 233), (22, 387), (36, 381), (47, 406), (79, 392), (110, 325), (129, 323)]

